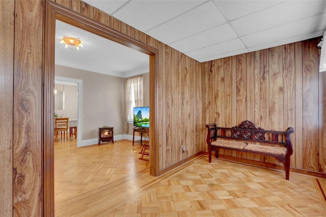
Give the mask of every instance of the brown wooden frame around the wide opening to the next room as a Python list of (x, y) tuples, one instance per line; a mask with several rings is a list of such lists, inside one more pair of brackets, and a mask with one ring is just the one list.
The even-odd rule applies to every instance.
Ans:
[(45, 1), (44, 43), (43, 43), (43, 215), (54, 216), (54, 83), (55, 83), (55, 33), (56, 20), (66, 22), (77, 28), (115, 41), (132, 49), (149, 55), (150, 79), (150, 175), (159, 175), (159, 149), (155, 136), (156, 121), (158, 118), (158, 49), (135, 40), (108, 26), (96, 22), (80, 13), (65, 8), (55, 2)]

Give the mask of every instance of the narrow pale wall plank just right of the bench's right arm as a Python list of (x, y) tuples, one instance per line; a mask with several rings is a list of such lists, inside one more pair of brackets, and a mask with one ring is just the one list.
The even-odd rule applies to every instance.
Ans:
[[(303, 70), (302, 70), (302, 42), (294, 43), (295, 64), (295, 126), (293, 155), (291, 158), (295, 168), (303, 168)], [(291, 164), (292, 165), (292, 164)]]

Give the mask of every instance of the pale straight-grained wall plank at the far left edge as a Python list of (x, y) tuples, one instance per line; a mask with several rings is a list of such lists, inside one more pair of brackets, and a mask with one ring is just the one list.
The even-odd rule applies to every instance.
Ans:
[(0, 4), (0, 216), (13, 216), (14, 14), (14, 1)]

